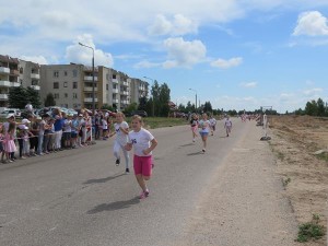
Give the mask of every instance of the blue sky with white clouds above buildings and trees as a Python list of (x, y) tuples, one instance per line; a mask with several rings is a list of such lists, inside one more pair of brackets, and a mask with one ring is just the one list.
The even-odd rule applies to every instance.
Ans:
[[(95, 65), (187, 105), (279, 113), (328, 102), (328, 0), (0, 0), (0, 54)], [(150, 79), (145, 79), (150, 78)]]

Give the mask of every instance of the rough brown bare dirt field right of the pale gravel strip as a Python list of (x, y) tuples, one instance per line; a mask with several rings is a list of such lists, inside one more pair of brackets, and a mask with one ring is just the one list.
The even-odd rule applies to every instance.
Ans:
[[(328, 159), (314, 153), (328, 149), (328, 118), (271, 117), (269, 132), (273, 137), (270, 147), (277, 156), (277, 172), (283, 177), (298, 224), (318, 214), (319, 223), (327, 226)], [(327, 235), (302, 245), (327, 245)]]

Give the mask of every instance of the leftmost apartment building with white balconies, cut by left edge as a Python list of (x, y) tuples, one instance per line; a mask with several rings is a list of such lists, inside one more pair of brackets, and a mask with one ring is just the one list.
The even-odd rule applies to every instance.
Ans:
[(9, 89), (20, 86), (19, 59), (0, 55), (0, 108), (8, 107)]

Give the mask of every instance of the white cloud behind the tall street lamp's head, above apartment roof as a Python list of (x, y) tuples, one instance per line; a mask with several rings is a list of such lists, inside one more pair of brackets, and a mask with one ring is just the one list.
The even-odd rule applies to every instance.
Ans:
[(95, 66), (113, 67), (114, 60), (112, 54), (96, 49), (91, 35), (84, 34), (77, 38), (73, 45), (66, 48), (66, 59), (71, 62), (92, 65), (92, 49), (79, 45), (79, 43), (90, 46), (94, 49)]

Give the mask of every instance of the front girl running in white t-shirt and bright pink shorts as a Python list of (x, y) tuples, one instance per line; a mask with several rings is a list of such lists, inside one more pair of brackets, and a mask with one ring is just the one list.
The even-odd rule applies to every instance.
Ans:
[(142, 118), (138, 115), (132, 116), (132, 131), (129, 132), (129, 140), (125, 147), (127, 151), (134, 147), (133, 168), (137, 181), (142, 189), (140, 199), (149, 196), (145, 181), (152, 174), (152, 151), (157, 145), (156, 139), (148, 130), (142, 128)]

